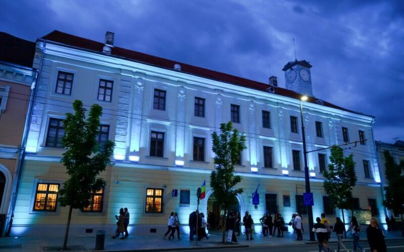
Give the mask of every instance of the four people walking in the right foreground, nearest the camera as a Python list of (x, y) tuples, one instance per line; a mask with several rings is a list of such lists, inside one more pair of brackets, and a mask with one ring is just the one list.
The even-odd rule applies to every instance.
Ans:
[[(327, 220), (325, 217), (325, 214), (321, 214), (321, 218), (317, 217), (316, 218), (316, 224), (313, 226), (313, 232), (316, 233), (317, 236), (317, 241), (318, 241), (318, 246), (319, 246), (319, 252), (325, 251), (329, 252), (331, 251), (328, 240), (331, 237), (331, 232), (332, 228), (330, 225), (330, 222)], [(345, 251), (349, 251), (344, 243), (342, 242), (343, 234), (346, 231), (345, 230), (345, 225), (341, 221), (339, 217), (336, 218), (336, 223), (334, 225), (333, 231), (336, 232), (337, 235), (337, 250), (341, 249), (341, 247)], [(359, 242), (359, 237), (360, 237), (360, 231), (361, 231), (361, 226), (358, 223), (358, 220), (355, 216), (351, 217), (351, 220), (349, 222), (349, 228), (348, 232), (351, 233), (352, 239), (353, 239), (353, 245), (354, 249), (352, 251), (357, 251), (357, 248), (360, 249), (360, 251), (365, 252), (366, 250), (363, 248), (362, 244)], [(366, 236), (368, 238), (369, 246), (371, 251), (377, 251), (377, 252), (386, 252), (387, 247), (386, 247), (386, 242), (384, 240), (384, 233), (379, 227), (377, 223), (377, 219), (372, 217), (370, 220), (370, 224), (366, 229)]]

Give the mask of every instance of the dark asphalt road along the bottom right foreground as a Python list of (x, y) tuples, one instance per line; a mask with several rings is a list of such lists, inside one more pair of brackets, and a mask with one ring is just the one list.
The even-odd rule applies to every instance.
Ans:
[[(352, 249), (353, 245), (352, 242), (344, 243), (348, 249)], [(366, 251), (370, 251), (369, 244), (366, 240), (362, 240), (361, 244), (364, 246)], [(337, 243), (330, 243), (330, 248), (334, 251), (337, 249)], [(186, 251), (195, 251), (195, 250), (182, 250), (183, 252)], [(302, 244), (302, 245), (282, 245), (282, 246), (250, 246), (250, 247), (241, 247), (241, 248), (217, 248), (217, 249), (198, 249), (197, 251), (201, 252), (318, 252), (317, 244)], [(344, 250), (340, 250), (344, 251)], [(357, 249), (359, 251), (359, 249)], [(393, 240), (387, 241), (387, 251), (388, 252), (401, 252), (404, 251), (404, 240)]]

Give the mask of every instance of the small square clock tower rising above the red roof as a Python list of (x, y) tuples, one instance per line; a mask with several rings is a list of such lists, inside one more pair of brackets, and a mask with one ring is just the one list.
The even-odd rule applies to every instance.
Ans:
[(313, 96), (311, 67), (306, 60), (287, 62), (282, 69), (285, 72), (286, 88), (302, 95)]

